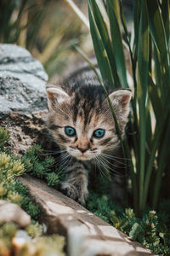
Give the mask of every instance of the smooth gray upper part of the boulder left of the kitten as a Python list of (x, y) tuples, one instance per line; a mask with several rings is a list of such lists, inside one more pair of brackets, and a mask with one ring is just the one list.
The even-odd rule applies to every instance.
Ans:
[(26, 49), (0, 44), (0, 116), (47, 109), (47, 80), (42, 64)]

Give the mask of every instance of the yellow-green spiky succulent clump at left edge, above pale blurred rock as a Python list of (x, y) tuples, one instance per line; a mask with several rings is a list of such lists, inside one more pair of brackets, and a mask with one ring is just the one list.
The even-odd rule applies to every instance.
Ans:
[(8, 137), (8, 131), (0, 126), (0, 199), (20, 205), (32, 218), (37, 219), (38, 207), (30, 201), (26, 186), (16, 179), (26, 172), (25, 166), (19, 157), (3, 147), (8, 142)]

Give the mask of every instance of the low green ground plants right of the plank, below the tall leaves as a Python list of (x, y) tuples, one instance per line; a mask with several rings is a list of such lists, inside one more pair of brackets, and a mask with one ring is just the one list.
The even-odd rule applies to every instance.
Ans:
[[(100, 179), (103, 181), (103, 178), (100, 177)], [(132, 240), (139, 241), (153, 253), (169, 255), (170, 201), (162, 201), (159, 212), (147, 210), (141, 218), (137, 218), (132, 208), (115, 205), (108, 195), (102, 195), (101, 191), (98, 193), (94, 191), (91, 190), (89, 194), (87, 205), (89, 211), (130, 236)]]

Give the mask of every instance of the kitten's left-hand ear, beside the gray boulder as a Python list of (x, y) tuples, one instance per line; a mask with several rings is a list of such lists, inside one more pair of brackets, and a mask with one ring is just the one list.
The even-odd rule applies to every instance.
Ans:
[(48, 93), (48, 108), (54, 109), (56, 104), (61, 104), (69, 99), (68, 94), (61, 88), (50, 87), (47, 89)]

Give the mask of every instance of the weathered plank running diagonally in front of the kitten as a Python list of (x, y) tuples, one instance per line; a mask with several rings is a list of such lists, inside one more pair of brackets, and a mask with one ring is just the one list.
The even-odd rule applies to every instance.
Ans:
[(69, 256), (154, 255), (76, 201), (32, 177), (20, 177), (41, 209), (48, 232), (67, 239)]

